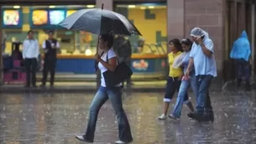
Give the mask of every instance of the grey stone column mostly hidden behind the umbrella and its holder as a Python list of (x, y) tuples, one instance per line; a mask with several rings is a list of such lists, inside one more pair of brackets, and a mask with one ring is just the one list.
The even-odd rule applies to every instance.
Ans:
[[(96, 0), (96, 6), (97, 8), (102, 8), (102, 3), (104, 4), (103, 8), (104, 9), (107, 9), (107, 10), (111, 10), (112, 11), (112, 6), (113, 6), (113, 3), (112, 3), (112, 0)], [(98, 53), (101, 54), (102, 51), (99, 49), (98, 50)], [(99, 70), (97, 70), (97, 88), (101, 85), (101, 73)]]

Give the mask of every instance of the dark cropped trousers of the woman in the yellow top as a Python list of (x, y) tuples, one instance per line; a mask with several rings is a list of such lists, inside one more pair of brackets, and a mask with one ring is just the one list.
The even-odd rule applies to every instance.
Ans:
[[(175, 91), (179, 92), (180, 84), (181, 84), (181, 80), (179, 80), (178, 77), (169, 76), (167, 78), (164, 102), (170, 102), (172, 100), (173, 96), (175, 95)], [(186, 101), (188, 99), (189, 99), (189, 96), (187, 94), (187, 91), (185, 91), (183, 101)]]

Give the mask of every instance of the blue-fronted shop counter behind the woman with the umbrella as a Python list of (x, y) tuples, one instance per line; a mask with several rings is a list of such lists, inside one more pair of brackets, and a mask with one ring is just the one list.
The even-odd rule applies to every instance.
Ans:
[[(58, 54), (56, 64), (56, 75), (93, 75), (95, 77), (93, 55), (60, 55)], [(131, 59), (131, 69), (133, 78), (160, 79), (165, 77), (166, 54), (133, 54)]]

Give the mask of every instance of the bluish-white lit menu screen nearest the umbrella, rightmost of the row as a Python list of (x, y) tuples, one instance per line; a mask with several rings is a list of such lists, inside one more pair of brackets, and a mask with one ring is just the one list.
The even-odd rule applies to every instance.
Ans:
[(50, 11), (50, 24), (59, 24), (65, 18), (64, 10), (51, 10)]

